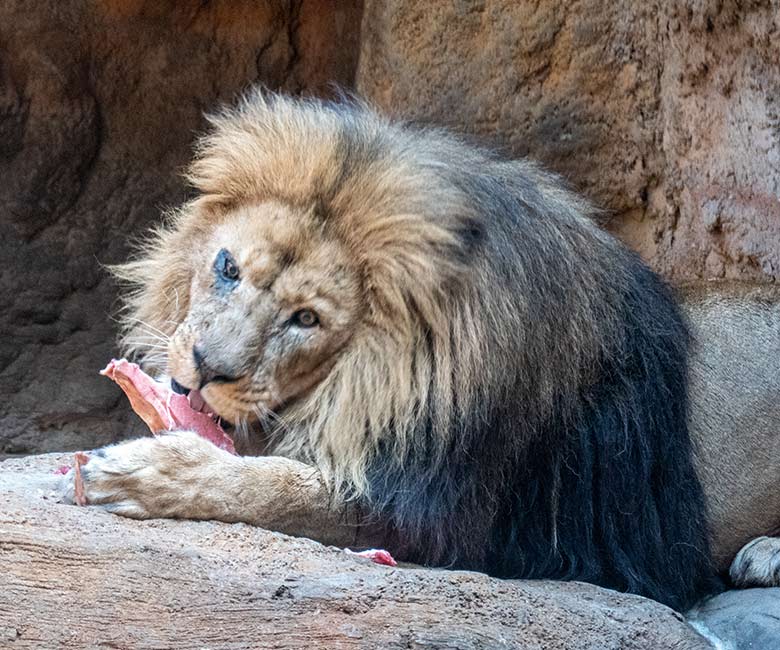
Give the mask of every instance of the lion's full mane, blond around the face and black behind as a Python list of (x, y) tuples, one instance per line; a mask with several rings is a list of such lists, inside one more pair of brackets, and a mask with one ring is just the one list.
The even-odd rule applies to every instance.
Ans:
[(710, 586), (670, 290), (527, 161), (359, 102), (250, 93), (211, 118), (198, 196), (120, 271), (126, 340), (186, 314), (182, 251), (232, 206), (314, 206), (359, 263), (365, 322), (283, 413), (407, 559), (577, 579), (682, 609)]

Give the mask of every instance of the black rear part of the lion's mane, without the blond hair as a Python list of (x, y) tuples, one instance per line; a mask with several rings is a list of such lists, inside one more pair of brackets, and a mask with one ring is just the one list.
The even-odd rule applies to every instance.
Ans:
[[(575, 204), (547, 204), (550, 177), (507, 165), (457, 182), (487, 212), (474, 260), (483, 313), (524, 331), (488, 334), (492, 368), (460, 405), (445, 461), (433, 460), (435, 404), (403, 464), (377, 455), (370, 507), (411, 561), (584, 580), (684, 610), (714, 588), (686, 324), (638, 256)], [(487, 296), (499, 285), (518, 296), (516, 314)]]

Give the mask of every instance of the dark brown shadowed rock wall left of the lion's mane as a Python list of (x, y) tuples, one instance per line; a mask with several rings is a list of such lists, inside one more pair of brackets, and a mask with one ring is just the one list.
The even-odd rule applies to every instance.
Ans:
[(142, 431), (97, 375), (101, 265), (184, 197), (204, 111), (254, 82), (349, 85), (359, 24), (352, 1), (0, 4), (0, 453)]

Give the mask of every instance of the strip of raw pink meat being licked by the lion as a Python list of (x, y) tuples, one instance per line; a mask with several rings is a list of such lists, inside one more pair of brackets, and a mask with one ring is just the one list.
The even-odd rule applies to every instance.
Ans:
[(205, 412), (206, 402), (199, 391), (191, 391), (189, 396), (174, 393), (125, 359), (112, 359), (100, 374), (119, 384), (152, 433), (189, 429), (220, 449), (236, 453), (230, 436)]

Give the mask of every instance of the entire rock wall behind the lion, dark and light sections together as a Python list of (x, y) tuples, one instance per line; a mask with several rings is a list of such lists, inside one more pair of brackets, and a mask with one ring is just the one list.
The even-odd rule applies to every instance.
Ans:
[(675, 282), (780, 277), (780, 5), (0, 2), (0, 454), (140, 432), (103, 266), (181, 201), (203, 112), (355, 89), (561, 173)]

